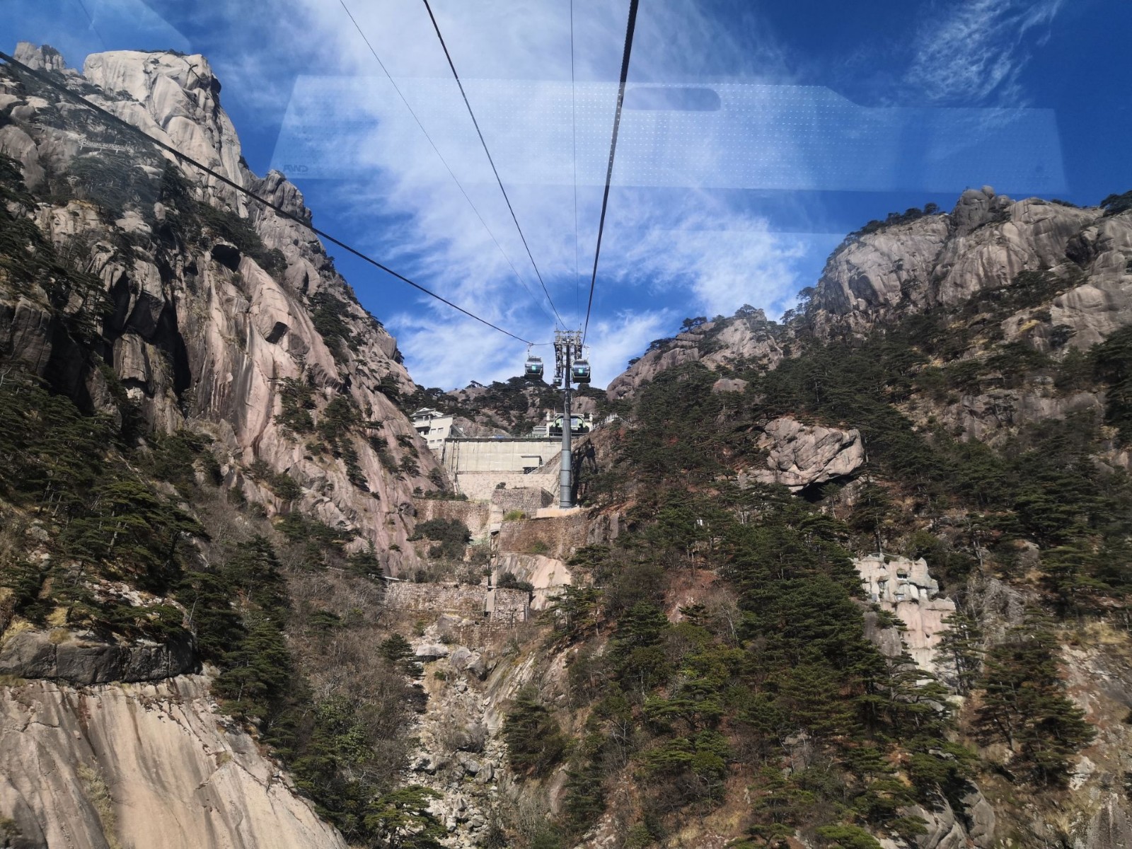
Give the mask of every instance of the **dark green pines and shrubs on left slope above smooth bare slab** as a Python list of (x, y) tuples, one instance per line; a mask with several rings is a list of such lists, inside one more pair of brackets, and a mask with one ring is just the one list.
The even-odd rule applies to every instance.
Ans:
[[(156, 182), (138, 177), (136, 163), (102, 168), (97, 157), (86, 157), (82, 168), (89, 172), (83, 183), (87, 199), (108, 220), (139, 199), (152, 211), (160, 192), (170, 239), (189, 243), (208, 234), (234, 241), (278, 271), (281, 257), (264, 250), (247, 221), (196, 201), (175, 168), (166, 166)], [(59, 191), (70, 186), (66, 177), (51, 175)], [(100, 357), (108, 350), (109, 317), (102, 281), (76, 268), (79, 254), (57, 249), (26, 215), (35, 201), (18, 163), (0, 157), (0, 286), (53, 314), (75, 355), (97, 370), (114, 409), (91, 414), (18, 363), (0, 361), (3, 620), (83, 629), (108, 641), (195, 641), (197, 658), (218, 670), (214, 692), (223, 709), (256, 730), (348, 840), (375, 848), (439, 846), (444, 832), (427, 811), (429, 791), (398, 786), (406, 727), (420, 701), (410, 678), (414, 670), (401, 657), (361, 651), (357, 628), (366, 625), (363, 617), (348, 620), (292, 594), (297, 574), (318, 574), (331, 564), (368, 574), (380, 571), (376, 558), (346, 557), (342, 546), (351, 534), (298, 514), (273, 528), (239, 484), (239, 475), (258, 479), (288, 499), (298, 495), (289, 477), (254, 464), (230, 486), (209, 437), (148, 432)], [(117, 249), (128, 259), (128, 240)], [(49, 380), (54, 377), (49, 374)], [(325, 440), (324, 449), (350, 466), (345, 431), (358, 423), (358, 411), (349, 402), (332, 403), (316, 420), (305, 387), (288, 388), (294, 403), (284, 405), (286, 423)], [(258, 532), (233, 533), (225, 521), (225, 535), (214, 538), (212, 520), (233, 509)], [(26, 533), (41, 540), (36, 546), (46, 559), (26, 555)], [(114, 590), (123, 584), (146, 601)], [(311, 655), (348, 663), (342, 672), (359, 686), (316, 693)]]

